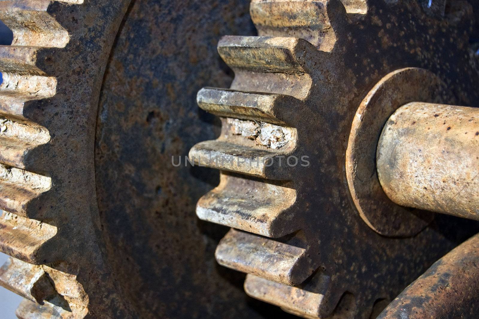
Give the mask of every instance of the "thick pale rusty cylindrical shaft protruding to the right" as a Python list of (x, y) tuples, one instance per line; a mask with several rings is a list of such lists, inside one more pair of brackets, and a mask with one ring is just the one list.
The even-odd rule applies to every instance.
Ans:
[(397, 204), (479, 220), (479, 108), (401, 106), (379, 138), (376, 164)]

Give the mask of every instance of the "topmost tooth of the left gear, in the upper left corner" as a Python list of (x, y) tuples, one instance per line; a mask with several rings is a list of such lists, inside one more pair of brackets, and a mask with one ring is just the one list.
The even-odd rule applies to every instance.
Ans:
[(50, 0), (0, 1), (0, 19), (13, 32), (12, 45), (65, 47), (68, 44), (67, 30), (46, 12), (50, 3)]

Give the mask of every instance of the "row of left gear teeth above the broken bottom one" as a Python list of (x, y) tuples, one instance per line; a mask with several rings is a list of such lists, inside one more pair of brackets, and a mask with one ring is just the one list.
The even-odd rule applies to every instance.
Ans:
[(36, 103), (31, 101), (56, 95), (57, 79), (38, 66), (39, 52), (69, 41), (68, 32), (47, 12), (51, 3), (0, 2), (0, 19), (13, 32), (13, 45), (0, 47), (0, 251), (36, 265), (58, 258), (50, 246), (57, 227), (39, 221), (41, 205), (36, 204), (52, 184), (50, 177), (39, 175), (46, 173), (47, 163), (39, 156), (43, 152), (36, 152), (48, 144), (50, 133), (26, 111)]

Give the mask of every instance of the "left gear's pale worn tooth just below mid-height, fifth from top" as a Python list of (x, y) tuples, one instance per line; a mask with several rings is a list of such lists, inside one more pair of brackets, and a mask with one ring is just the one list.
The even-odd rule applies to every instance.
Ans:
[(51, 178), (0, 165), (0, 209), (35, 218), (30, 204), (51, 187)]

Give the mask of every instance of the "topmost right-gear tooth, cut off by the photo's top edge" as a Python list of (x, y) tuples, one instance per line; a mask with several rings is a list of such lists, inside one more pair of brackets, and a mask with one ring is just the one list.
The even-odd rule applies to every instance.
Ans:
[(347, 22), (339, 0), (252, 0), (250, 12), (259, 35), (303, 38), (328, 52), (339, 37), (338, 29)]

